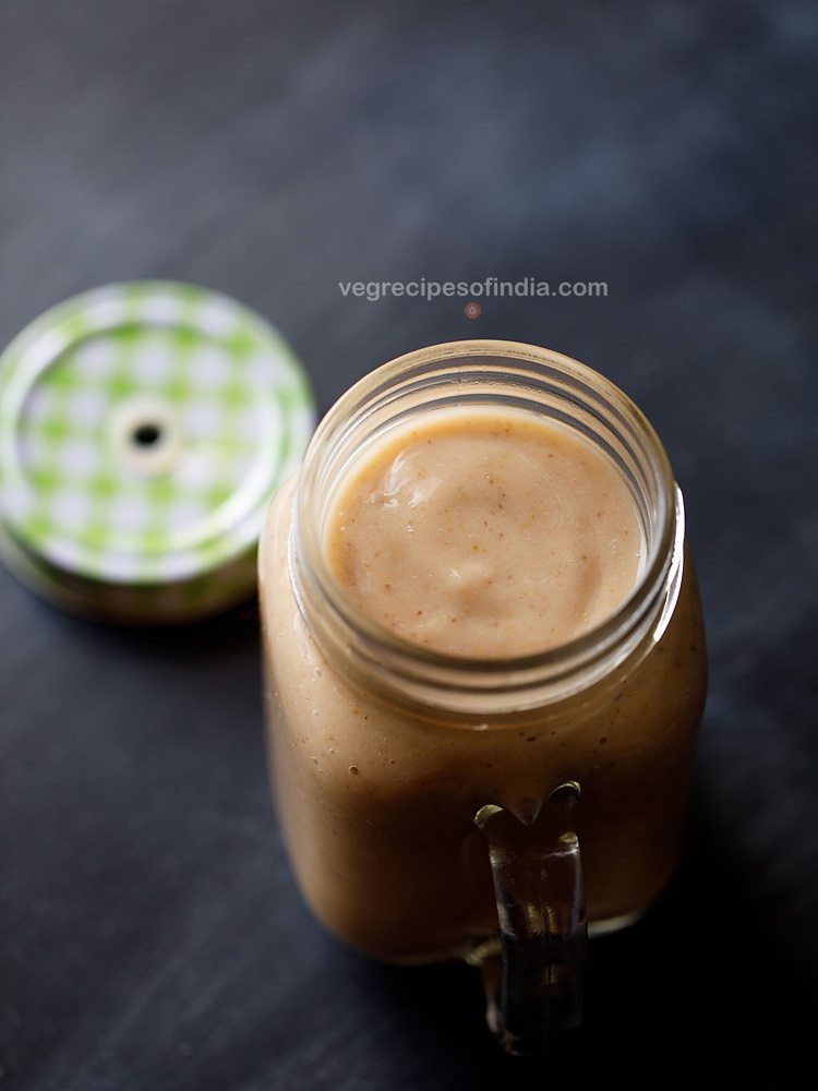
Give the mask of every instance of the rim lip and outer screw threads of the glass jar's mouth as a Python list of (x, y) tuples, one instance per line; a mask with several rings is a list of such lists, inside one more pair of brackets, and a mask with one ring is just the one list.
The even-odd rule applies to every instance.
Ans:
[[(601, 399), (629, 427), (641, 443), (642, 454), (649, 456), (658, 500), (658, 525), (649, 546), (647, 563), (619, 607), (570, 640), (508, 658), (459, 656), (430, 649), (399, 636), (361, 611), (333, 575), (321, 548), (315, 527), (317, 520), (314, 518), (314, 489), (321, 468), (321, 453), (344, 437), (345, 429), (368, 401), (372, 404), (377, 397), (388, 397), (401, 380), (411, 382), (412, 376), (422, 374), (424, 369), (426, 374), (432, 374), (430, 365), (450, 369), (458, 360), (470, 360), (472, 365), (478, 361), (485, 365), (492, 357), (500, 364), (493, 372), (498, 379), (515, 365), (522, 365), (524, 369), (533, 365), (537, 369), (534, 373), (558, 375), (575, 396), (590, 394)], [(424, 704), (430, 703), (430, 686), (432, 690), (443, 686), (450, 692), (482, 693), (485, 696), (502, 690), (507, 694), (517, 692), (519, 696), (522, 691), (531, 691), (532, 687), (541, 690), (545, 676), (551, 683), (565, 683), (578, 670), (587, 670), (610, 659), (625, 637), (633, 636), (640, 625), (645, 627), (647, 614), (657, 613), (658, 608), (661, 612), (661, 600), (666, 591), (674, 555), (681, 554), (683, 514), (681, 495), (676, 495), (674, 503), (676, 493), (667, 456), (648, 419), (618, 386), (592, 368), (563, 353), (518, 341), (472, 339), (432, 345), (404, 353), (363, 376), (341, 395), (316, 429), (304, 455), (293, 505), (290, 535), (293, 592), (304, 621), (318, 637), (320, 645), (324, 644), (324, 637), (329, 637), (330, 643), (336, 645), (340, 638), (341, 650), (347, 658), (358, 654), (371, 668), (394, 675), (393, 681), (402, 679), (416, 690), (420, 685), (425, 693)], [(676, 561), (681, 565), (681, 555)], [(320, 591), (322, 610), (318, 616), (306, 601), (311, 590)], [(333, 635), (329, 632), (338, 627), (342, 633), (336, 631)], [(560, 690), (561, 696), (574, 692), (565, 691), (564, 684)], [(450, 699), (431, 703), (453, 707)], [(515, 704), (515, 707), (521, 706)]]

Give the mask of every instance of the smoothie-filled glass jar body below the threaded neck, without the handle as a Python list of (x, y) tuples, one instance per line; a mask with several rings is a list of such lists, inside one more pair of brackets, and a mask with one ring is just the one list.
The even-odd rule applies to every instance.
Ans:
[(462, 955), (496, 934), (474, 815), (531, 820), (557, 784), (581, 786), (588, 916), (638, 916), (676, 863), (706, 688), (689, 552), (672, 613), (592, 685), (514, 715), (455, 716), (392, 700), (327, 658), (299, 608), (290, 482), (260, 559), (274, 794), (301, 890), (347, 943), (389, 960)]

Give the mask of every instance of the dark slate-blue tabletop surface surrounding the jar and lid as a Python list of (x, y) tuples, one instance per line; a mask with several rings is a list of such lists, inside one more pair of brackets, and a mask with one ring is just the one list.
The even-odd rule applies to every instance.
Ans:
[[(471, 972), (303, 909), (253, 608), (118, 632), (0, 573), (3, 1091), (779, 1087), (811, 1050), (817, 45), (808, 2), (3, 0), (0, 341), (172, 277), (275, 322), (323, 408), (434, 341), (575, 356), (665, 442), (712, 663), (683, 866), (542, 1068)], [(488, 275), (610, 291), (469, 321), (337, 284)]]

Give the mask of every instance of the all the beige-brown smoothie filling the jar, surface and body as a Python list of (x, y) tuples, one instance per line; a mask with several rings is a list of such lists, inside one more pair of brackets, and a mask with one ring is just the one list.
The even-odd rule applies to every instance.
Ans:
[[(633, 484), (551, 416), (419, 407), (338, 465), (315, 505), (332, 594), (419, 661), (558, 649), (627, 610), (642, 579)], [(476, 813), (496, 804), (530, 822), (566, 780), (581, 786), (591, 924), (640, 914), (678, 854), (703, 702), (690, 559), (661, 633), (591, 684), (502, 715), (455, 714), (370, 685), (349, 667), (354, 649), (327, 652), (314, 599), (293, 588), (299, 488), (270, 506), (260, 579), (275, 801), (316, 915), (384, 959), (462, 952), (497, 932)]]

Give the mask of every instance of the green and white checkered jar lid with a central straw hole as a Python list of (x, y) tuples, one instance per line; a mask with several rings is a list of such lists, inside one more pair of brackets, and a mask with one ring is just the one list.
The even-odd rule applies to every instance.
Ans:
[(184, 621), (246, 596), (267, 503), (314, 424), (288, 344), (232, 299), (76, 296), (0, 356), (0, 547), (63, 606)]

